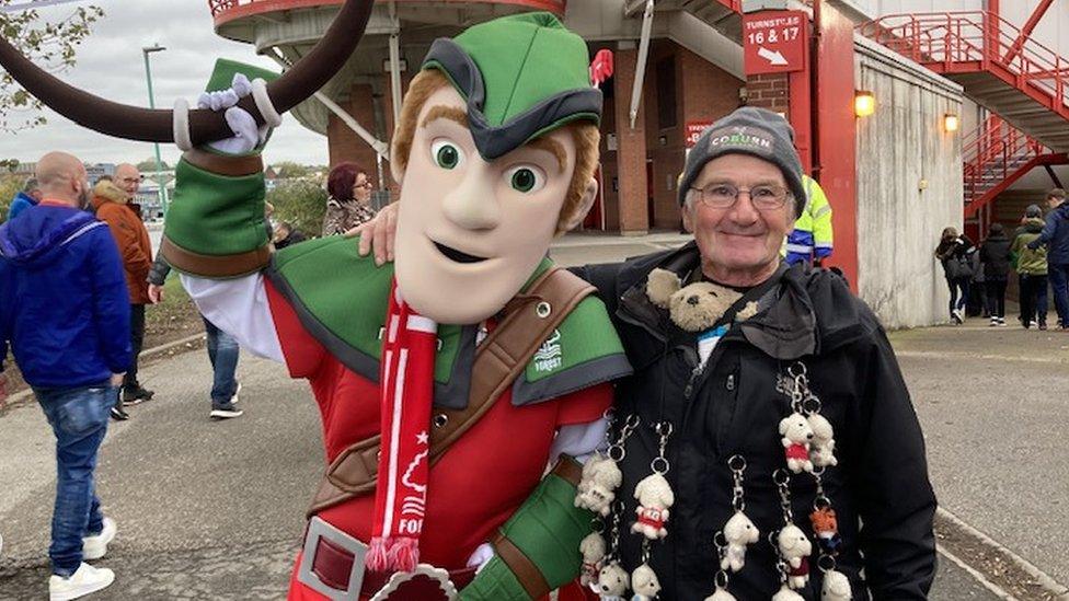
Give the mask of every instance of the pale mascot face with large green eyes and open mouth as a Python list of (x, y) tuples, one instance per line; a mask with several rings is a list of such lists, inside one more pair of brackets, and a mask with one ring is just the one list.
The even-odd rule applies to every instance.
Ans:
[(575, 166), (560, 130), (486, 162), (465, 122), (451, 86), (432, 94), (402, 177), (398, 287), (439, 323), (479, 323), (519, 291), (549, 250)]

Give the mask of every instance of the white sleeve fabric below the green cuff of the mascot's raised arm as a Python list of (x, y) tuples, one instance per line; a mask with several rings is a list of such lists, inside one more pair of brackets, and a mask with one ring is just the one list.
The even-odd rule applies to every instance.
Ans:
[(182, 286), (200, 314), (242, 348), (285, 363), (262, 274), (226, 280), (182, 274)]

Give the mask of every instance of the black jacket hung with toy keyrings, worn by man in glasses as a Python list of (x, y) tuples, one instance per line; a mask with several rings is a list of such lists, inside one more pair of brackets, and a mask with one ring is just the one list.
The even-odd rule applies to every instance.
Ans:
[[(801, 358), (811, 389), (823, 401), (821, 414), (835, 427), (839, 464), (827, 469), (824, 486), (838, 513), (844, 542), (838, 565), (852, 581), (853, 598), (870, 598), (860, 576), (864, 569), (874, 599), (924, 599), (935, 576), (935, 496), (917, 415), (875, 315), (838, 276), (795, 266), (761, 298), (758, 314), (733, 326), (705, 369), (696, 371), (694, 334), (673, 325), (644, 289), (654, 267), (686, 275), (698, 261), (691, 243), (576, 270), (600, 290), (635, 370), (617, 386), (618, 416), (637, 413), (642, 423), (621, 465), (624, 567), (630, 571), (641, 563), (641, 536), (630, 533), (632, 492), (657, 455), (651, 425), (667, 419), (676, 429), (667, 476), (676, 504), (668, 536), (653, 544), (650, 560), (664, 586), (660, 599), (699, 600), (713, 592), (713, 536), (732, 516), (726, 463), (736, 453), (748, 463), (746, 513), (761, 540), (749, 546), (728, 590), (739, 600), (772, 597), (779, 576), (768, 535), (783, 525), (772, 472), (785, 465), (778, 426), (791, 413), (789, 400), (775, 391), (775, 377)], [(791, 489), (795, 524), (812, 533), (814, 479), (793, 476)], [(820, 597), (815, 554), (811, 565), (809, 586), (800, 592), (815, 600)]]

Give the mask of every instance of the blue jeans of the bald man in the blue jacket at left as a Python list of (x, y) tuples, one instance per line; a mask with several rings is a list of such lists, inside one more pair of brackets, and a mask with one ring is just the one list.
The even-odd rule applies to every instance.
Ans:
[(118, 388), (34, 389), (56, 435), (56, 506), (51, 515), (51, 571), (70, 576), (82, 563), (82, 536), (104, 529), (93, 472)]

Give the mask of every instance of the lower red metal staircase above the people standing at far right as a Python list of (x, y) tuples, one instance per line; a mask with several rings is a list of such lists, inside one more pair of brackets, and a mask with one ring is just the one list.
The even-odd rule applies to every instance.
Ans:
[(966, 218), (976, 215), (1032, 169), (1069, 164), (1065, 152), (1051, 152), (996, 115), (962, 139), (962, 158)]

